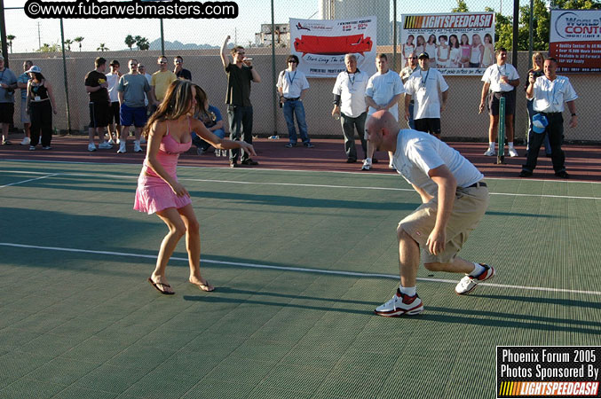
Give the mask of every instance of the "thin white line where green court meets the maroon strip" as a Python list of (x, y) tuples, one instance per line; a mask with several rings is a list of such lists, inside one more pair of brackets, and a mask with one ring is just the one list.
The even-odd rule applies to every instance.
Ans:
[[(68, 160), (20, 160), (20, 159), (16, 159), (16, 160), (0, 160), (0, 161), (4, 161), (4, 162), (23, 162), (23, 163), (59, 163), (59, 164), (72, 164), (72, 165), (132, 165), (132, 166), (138, 166), (141, 168), (141, 164), (138, 163), (124, 163), (124, 162), (96, 162), (96, 161), (90, 161), (90, 162), (83, 162), (83, 161), (68, 161)], [(214, 168), (214, 169), (219, 169), (219, 170), (232, 170), (229, 166), (224, 166), (224, 167), (202, 167), (201, 165), (199, 166), (189, 166), (189, 165), (178, 165), (178, 168)], [(237, 171), (240, 172), (241, 169), (238, 169)], [(351, 172), (351, 171), (346, 171), (346, 170), (311, 170), (311, 169), (281, 169), (281, 168), (244, 168), (244, 171), (247, 172), (254, 172), (254, 173), (261, 173), (261, 172), (270, 172), (270, 171), (278, 171), (278, 172), (297, 172), (297, 173), (344, 173), (344, 174), (352, 174), (352, 175), (363, 175), (363, 176), (368, 176), (368, 175), (377, 175), (377, 176), (399, 176), (399, 174), (391, 174), (391, 172), (387, 171), (387, 172), (377, 172), (377, 171), (370, 171), (368, 174), (365, 173), (365, 171), (356, 171), (356, 172)], [(518, 177), (489, 177), (489, 176), (484, 176), (484, 178), (486, 180), (519, 180), (519, 181), (524, 181), (523, 179), (518, 179)], [(595, 182), (595, 181), (591, 181), (591, 180), (557, 180), (557, 179), (537, 179), (537, 178), (532, 178), (532, 177), (528, 177), (526, 179), (529, 182), (544, 182), (544, 183), (560, 183), (560, 184), (576, 184), (576, 183), (588, 183), (588, 184), (601, 184), (601, 182)]]

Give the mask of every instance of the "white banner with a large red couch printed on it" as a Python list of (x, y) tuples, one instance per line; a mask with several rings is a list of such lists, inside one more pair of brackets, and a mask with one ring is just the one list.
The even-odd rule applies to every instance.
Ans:
[(376, 17), (352, 20), (290, 19), (290, 50), (307, 77), (336, 77), (346, 69), (344, 55), (357, 56), (357, 67), (376, 73)]

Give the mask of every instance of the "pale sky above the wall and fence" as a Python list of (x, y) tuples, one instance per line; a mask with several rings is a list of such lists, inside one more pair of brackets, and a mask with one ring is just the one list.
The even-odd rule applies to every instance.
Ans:
[[(333, 0), (340, 1), (340, 0)], [(366, 0), (368, 1), (368, 0)], [(430, 0), (431, 6), (419, 2), (398, 2), (400, 13), (450, 12), (456, 0)], [(496, 3), (497, 0), (494, 0)], [(498, 0), (502, 1), (502, 0)], [(527, 1), (527, 0), (526, 0)], [(237, 43), (248, 45), (255, 42), (255, 33), (261, 24), (271, 23), (271, 8), (268, 0), (238, 0), (239, 16), (236, 19), (220, 20), (163, 20), (165, 41), (181, 43), (208, 43), (220, 46), (226, 35), (237, 38)], [(289, 18), (316, 19), (319, 11), (317, 0), (273, 0), (275, 23), (288, 23)], [(503, 11), (510, 12), (510, 2), (505, 0)], [(524, 3), (524, 0), (522, 0)], [(4, 7), (23, 7), (25, 0), (4, 0)], [(470, 0), (471, 11), (483, 11), (488, 0)], [(497, 4), (498, 5), (498, 4)], [(493, 5), (494, 6), (494, 5)], [(402, 8), (401, 8), (402, 7)], [(498, 7), (497, 7), (498, 8)], [(507, 9), (507, 10), (505, 10)], [(6, 34), (15, 35), (12, 41), (13, 52), (36, 51), (43, 43), (60, 43), (59, 20), (29, 19), (23, 10), (5, 10)], [(83, 36), (82, 50), (97, 51), (104, 43), (111, 51), (125, 50), (127, 35), (140, 35), (153, 42), (161, 36), (160, 20), (63, 20), (65, 39), (73, 40)], [(39, 37), (38, 37), (39, 29)], [(72, 51), (79, 51), (78, 45), (71, 45)]]

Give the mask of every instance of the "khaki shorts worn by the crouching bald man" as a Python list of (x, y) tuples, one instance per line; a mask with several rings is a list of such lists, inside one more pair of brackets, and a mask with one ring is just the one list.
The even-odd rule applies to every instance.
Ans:
[(422, 204), (399, 222), (399, 227), (407, 232), (422, 248), (423, 263), (449, 263), (461, 250), (488, 207), (488, 189), (486, 187), (458, 187), (455, 192), (453, 211), (447, 223), (447, 243), (445, 250), (438, 255), (428, 251), (426, 241), (434, 229), (438, 198)]

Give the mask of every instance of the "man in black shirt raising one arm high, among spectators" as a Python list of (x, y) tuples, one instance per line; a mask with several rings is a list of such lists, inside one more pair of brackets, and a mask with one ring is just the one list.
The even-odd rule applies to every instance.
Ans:
[[(250, 104), (250, 82), (261, 82), (261, 76), (252, 66), (251, 59), (244, 57), (244, 48), (234, 47), (233, 62), (227, 56), (227, 43), (230, 36), (225, 37), (221, 46), (221, 62), (227, 75), (227, 119), (230, 122), (230, 139), (244, 140), (252, 144), (252, 105)], [(238, 168), (239, 149), (230, 151), (230, 167)], [(249, 158), (249, 153), (242, 153), (242, 165), (258, 165), (258, 162)]]

